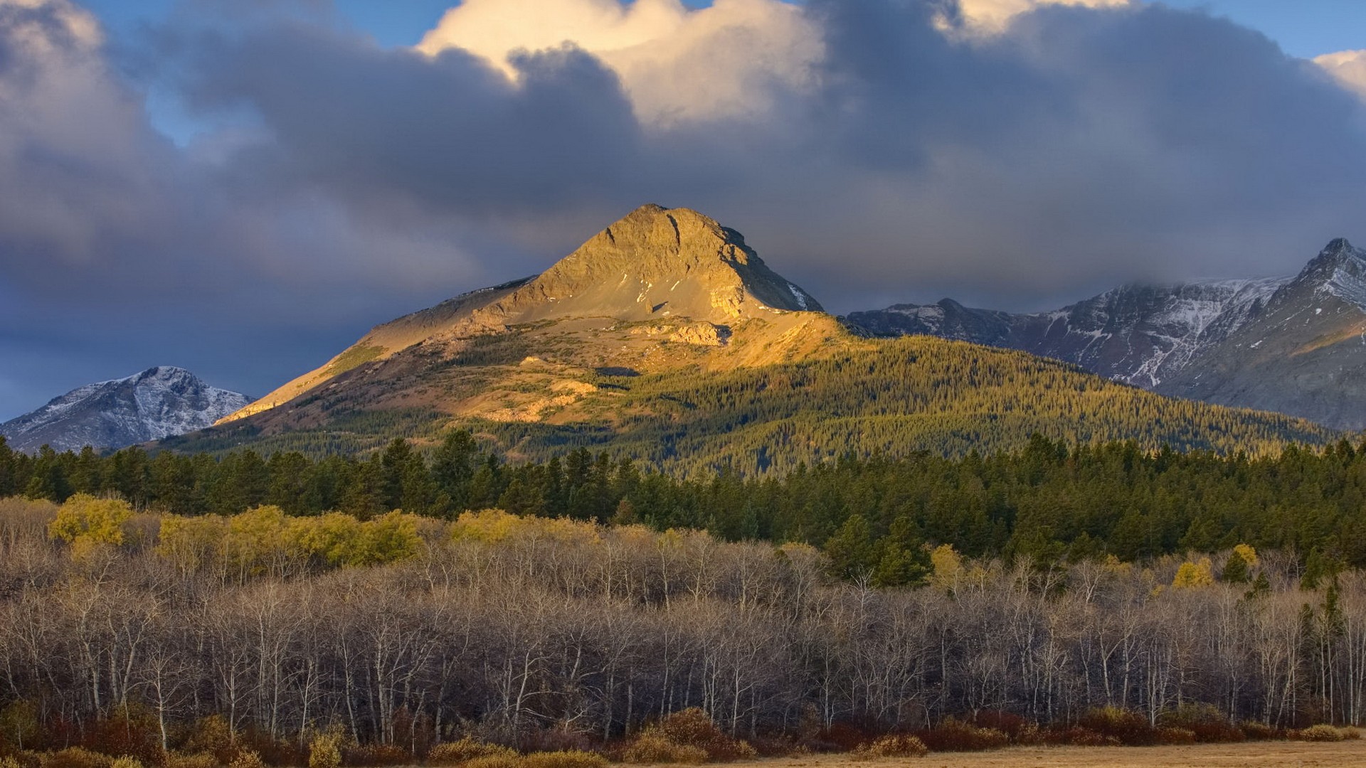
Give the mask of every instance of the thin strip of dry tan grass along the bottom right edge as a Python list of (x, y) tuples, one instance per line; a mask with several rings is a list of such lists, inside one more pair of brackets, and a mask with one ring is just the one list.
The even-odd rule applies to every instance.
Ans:
[(764, 768), (1366, 768), (1366, 741), (1336, 743), (1244, 742), (1191, 746), (1022, 746), (994, 752), (855, 761), (821, 754), (762, 761)]

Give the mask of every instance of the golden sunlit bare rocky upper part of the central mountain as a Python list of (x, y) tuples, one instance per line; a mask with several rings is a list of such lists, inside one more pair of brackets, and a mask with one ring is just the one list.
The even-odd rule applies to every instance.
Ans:
[[(585, 372), (762, 365), (817, 354), (826, 340), (855, 342), (847, 336), (735, 230), (695, 210), (645, 205), (538, 276), (376, 327), (223, 422), (285, 403), (264, 420), (268, 428), (316, 424), (337, 407), (538, 421), (593, 389)], [(471, 359), (518, 368), (485, 380), (488, 366)]]

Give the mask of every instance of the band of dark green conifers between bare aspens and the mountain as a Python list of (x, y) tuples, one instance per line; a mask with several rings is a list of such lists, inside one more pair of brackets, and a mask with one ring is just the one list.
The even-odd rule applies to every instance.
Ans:
[(139, 448), (30, 456), (0, 439), (0, 496), (61, 503), (74, 493), (184, 517), (262, 504), (357, 519), (392, 510), (454, 519), (501, 508), (705, 529), (724, 541), (811, 544), (850, 578), (880, 574), (887, 585), (917, 584), (923, 547), (941, 544), (970, 558), (1049, 564), (1104, 555), (1138, 562), (1247, 543), (1294, 553), (1311, 578), (1366, 567), (1366, 450), (1347, 441), (1249, 458), (1145, 451), (1132, 441), (1068, 447), (1034, 436), (1008, 454), (846, 456), (781, 477), (720, 471), (686, 480), (586, 448), (514, 465), (463, 430), (426, 450), (393, 440), (367, 458), (320, 461), (251, 450), (220, 458)]

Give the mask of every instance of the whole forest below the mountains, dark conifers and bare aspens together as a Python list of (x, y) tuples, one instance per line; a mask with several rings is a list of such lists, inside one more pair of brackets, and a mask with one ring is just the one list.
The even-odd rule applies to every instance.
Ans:
[(734, 754), (1366, 720), (1366, 447), (1346, 440), (1250, 458), (1035, 435), (709, 480), (489, 447), (0, 443), (0, 758), (172, 765), (205, 734), (275, 765), (329, 738), (350, 765), (619, 757), (679, 712)]

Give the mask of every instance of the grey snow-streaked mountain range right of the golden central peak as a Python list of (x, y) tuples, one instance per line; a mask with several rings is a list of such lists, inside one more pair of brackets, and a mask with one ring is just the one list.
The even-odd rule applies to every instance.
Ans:
[(847, 321), (877, 336), (1008, 347), (1164, 395), (1366, 428), (1366, 251), (1346, 239), (1294, 277), (1123, 286), (1033, 314), (943, 299)]

